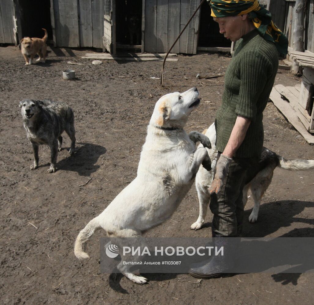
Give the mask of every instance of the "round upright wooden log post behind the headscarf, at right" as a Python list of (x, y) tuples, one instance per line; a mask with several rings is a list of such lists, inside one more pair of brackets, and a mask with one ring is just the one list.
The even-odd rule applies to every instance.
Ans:
[[(293, 29), (293, 50), (304, 52), (304, 2), (305, 0), (295, 1), (295, 26)], [(292, 62), (292, 73), (299, 72), (299, 64)]]

